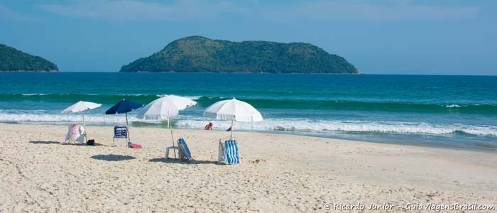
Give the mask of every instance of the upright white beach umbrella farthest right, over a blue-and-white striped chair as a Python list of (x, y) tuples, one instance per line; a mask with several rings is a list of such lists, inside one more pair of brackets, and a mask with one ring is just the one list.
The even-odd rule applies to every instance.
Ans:
[(256, 122), (263, 120), (261, 113), (251, 104), (235, 98), (210, 105), (205, 109), (204, 116), (212, 119), (231, 120), (230, 139), (233, 136), (233, 121)]

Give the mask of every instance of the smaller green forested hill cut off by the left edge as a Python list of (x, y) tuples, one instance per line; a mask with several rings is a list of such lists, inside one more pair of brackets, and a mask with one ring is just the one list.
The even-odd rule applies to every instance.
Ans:
[(0, 43), (0, 72), (58, 72), (53, 62)]

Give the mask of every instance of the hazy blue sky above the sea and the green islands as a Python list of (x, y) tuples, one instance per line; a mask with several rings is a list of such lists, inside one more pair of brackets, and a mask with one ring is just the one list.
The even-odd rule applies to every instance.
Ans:
[(0, 43), (117, 72), (191, 35), (303, 42), (366, 74), (497, 75), (494, 0), (0, 0)]

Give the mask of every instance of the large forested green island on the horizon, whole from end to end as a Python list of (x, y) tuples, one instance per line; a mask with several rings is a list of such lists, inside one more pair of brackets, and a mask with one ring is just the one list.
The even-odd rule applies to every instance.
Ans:
[(339, 55), (309, 43), (231, 42), (202, 36), (175, 40), (119, 72), (359, 73)]

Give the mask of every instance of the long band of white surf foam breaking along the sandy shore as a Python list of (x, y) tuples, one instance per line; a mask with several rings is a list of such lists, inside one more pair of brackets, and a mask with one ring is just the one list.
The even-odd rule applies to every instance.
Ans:
[[(128, 115), (130, 122), (146, 122), (158, 124), (162, 121), (148, 121), (136, 118), (134, 113)], [(231, 121), (218, 121), (197, 116), (176, 116), (175, 128), (203, 129), (209, 121), (214, 122), (214, 129), (228, 129)], [(0, 122), (65, 124), (82, 121), (80, 114), (60, 114), (53, 111), (0, 111)], [(84, 114), (87, 124), (122, 124), (124, 115)], [(234, 129), (244, 131), (307, 131), (307, 132), (376, 132), (404, 134), (448, 135), (467, 133), (477, 136), (497, 136), (497, 126), (477, 126), (469, 124), (430, 124), (395, 121), (342, 121), (311, 119), (265, 119), (261, 122), (234, 122)]]

